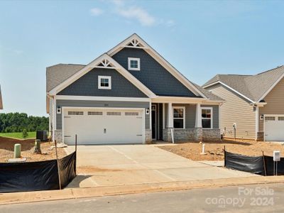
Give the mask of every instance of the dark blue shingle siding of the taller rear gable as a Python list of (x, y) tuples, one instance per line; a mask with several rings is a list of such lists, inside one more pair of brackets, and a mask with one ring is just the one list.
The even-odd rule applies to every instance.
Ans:
[(196, 97), (187, 87), (165, 70), (145, 50), (124, 48), (112, 56), (114, 60), (128, 70), (128, 58), (140, 58), (141, 70), (129, 70), (138, 80), (152, 92), (160, 96)]

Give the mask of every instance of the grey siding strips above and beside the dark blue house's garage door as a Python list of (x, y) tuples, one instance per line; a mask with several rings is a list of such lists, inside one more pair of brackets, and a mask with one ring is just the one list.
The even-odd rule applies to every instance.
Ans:
[[(116, 108), (150, 108), (150, 102), (105, 102), (81, 100), (56, 100), (56, 107), (116, 107)], [(56, 114), (56, 128), (62, 129), (62, 114)], [(145, 114), (145, 129), (150, 128), (150, 115)]]

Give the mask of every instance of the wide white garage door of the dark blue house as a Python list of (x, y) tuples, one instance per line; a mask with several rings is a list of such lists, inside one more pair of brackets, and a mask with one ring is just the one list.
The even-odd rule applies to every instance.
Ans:
[(143, 143), (142, 109), (64, 109), (63, 137), (69, 145)]

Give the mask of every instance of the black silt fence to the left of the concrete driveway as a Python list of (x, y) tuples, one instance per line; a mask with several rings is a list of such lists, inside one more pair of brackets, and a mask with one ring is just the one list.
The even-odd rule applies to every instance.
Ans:
[[(58, 161), (61, 187), (75, 178), (76, 152)], [(0, 163), (0, 192), (58, 190), (57, 160), (26, 163)]]

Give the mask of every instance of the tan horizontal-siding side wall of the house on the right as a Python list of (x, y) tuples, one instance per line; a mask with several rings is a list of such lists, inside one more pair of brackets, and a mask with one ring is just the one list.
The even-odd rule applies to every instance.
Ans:
[(222, 84), (216, 84), (207, 89), (225, 100), (220, 107), (221, 133), (226, 128), (226, 137), (233, 138), (233, 124), (236, 123), (236, 138), (255, 139), (256, 113), (253, 106)]

